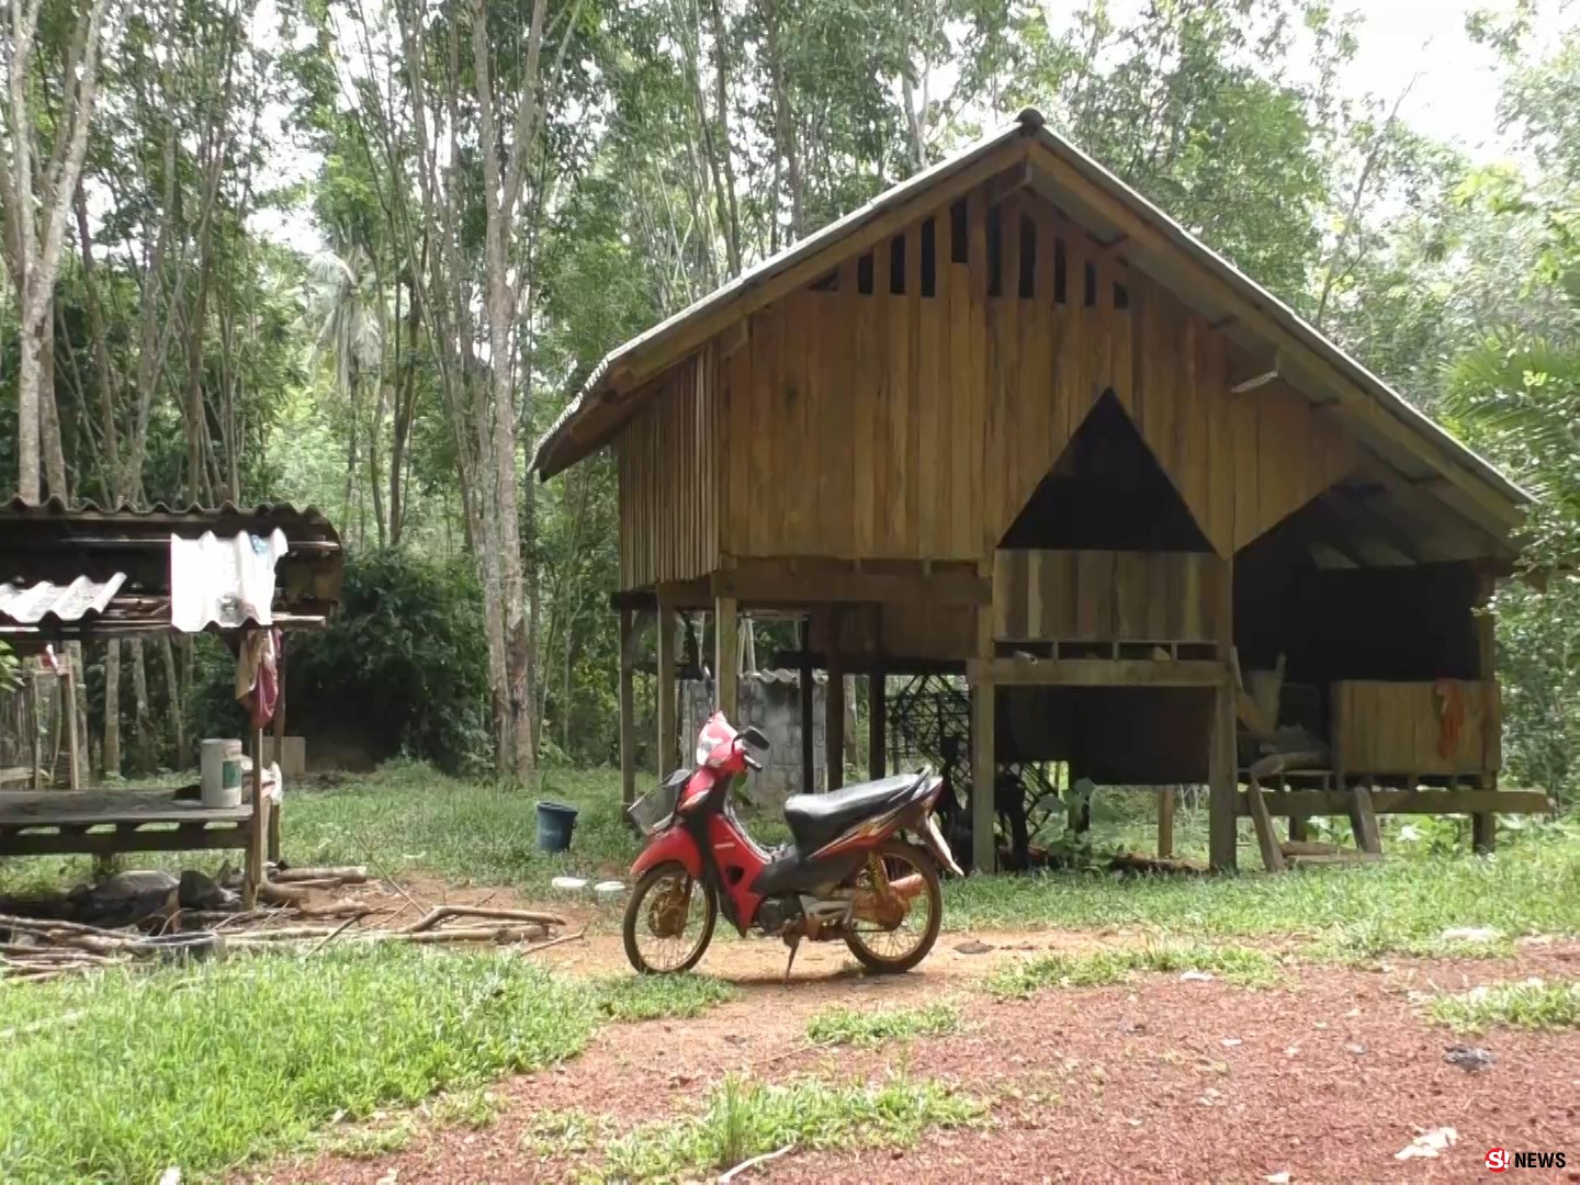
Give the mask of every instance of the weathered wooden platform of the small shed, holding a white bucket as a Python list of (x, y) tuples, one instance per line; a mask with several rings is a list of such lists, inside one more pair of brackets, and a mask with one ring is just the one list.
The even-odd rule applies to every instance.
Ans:
[(0, 856), (248, 848), (253, 806), (205, 807), (171, 790), (0, 792)]

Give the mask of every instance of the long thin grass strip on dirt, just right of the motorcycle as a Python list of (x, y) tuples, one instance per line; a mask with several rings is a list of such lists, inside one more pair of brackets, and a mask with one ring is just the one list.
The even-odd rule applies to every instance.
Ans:
[(988, 980), (994, 995), (1024, 999), (1046, 988), (1106, 988), (1134, 973), (1206, 972), (1240, 988), (1272, 988), (1283, 976), (1267, 951), (1245, 946), (1117, 946), (1081, 954), (1049, 951), (1022, 959)]

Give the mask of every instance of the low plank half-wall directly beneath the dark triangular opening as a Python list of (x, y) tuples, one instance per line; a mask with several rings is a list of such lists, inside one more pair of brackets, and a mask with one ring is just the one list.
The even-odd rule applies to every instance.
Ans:
[(1223, 561), (1188, 551), (999, 551), (1002, 641), (1215, 641)]

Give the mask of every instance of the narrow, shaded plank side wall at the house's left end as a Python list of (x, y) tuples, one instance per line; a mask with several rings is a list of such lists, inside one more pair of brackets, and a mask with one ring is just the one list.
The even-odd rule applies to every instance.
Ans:
[(714, 349), (670, 370), (615, 439), (619, 583), (690, 580), (719, 564), (719, 425)]

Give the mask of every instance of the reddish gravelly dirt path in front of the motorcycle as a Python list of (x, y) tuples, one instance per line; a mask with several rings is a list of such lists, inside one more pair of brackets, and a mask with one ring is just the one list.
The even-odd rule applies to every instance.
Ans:
[[(781, 983), (776, 943), (719, 943), (703, 970), (744, 999), (697, 1021), (602, 1030), (575, 1062), (498, 1087), (504, 1108), (483, 1131), (420, 1131), (400, 1153), (321, 1157), (276, 1166), (273, 1182), (574, 1180), (589, 1152), (545, 1158), (534, 1122), (602, 1115), (607, 1130), (684, 1112), (724, 1074), (880, 1076), (904, 1065), (994, 1100), (984, 1130), (926, 1136), (883, 1153), (795, 1153), (744, 1180), (771, 1182), (1291, 1182), (1485, 1179), (1490, 1147), (1566, 1150), (1580, 1180), (1580, 1033), (1496, 1032), (1476, 1043), (1495, 1063), (1468, 1073), (1444, 1060), (1455, 1038), (1419, 1014), (1419, 992), (1462, 991), (1526, 975), (1580, 975), (1580, 946), (1529, 948), (1514, 961), (1408, 962), (1381, 969), (1296, 967), (1270, 991), (1146, 976), (1123, 988), (1049, 991), (999, 1002), (976, 980), (1029, 950), (1082, 948), (1138, 935), (946, 935), (918, 972), (853, 975), (842, 948), (814, 946)], [(976, 950), (983, 943), (991, 950)], [(575, 973), (624, 967), (618, 939), (547, 953)], [(858, 1008), (957, 999), (959, 1033), (871, 1052), (809, 1046), (807, 1018), (831, 1002)], [(1435, 1160), (1395, 1153), (1428, 1128), (1457, 1144)], [(591, 1160), (589, 1160), (591, 1158)], [(393, 1176), (390, 1176), (393, 1174)]]

